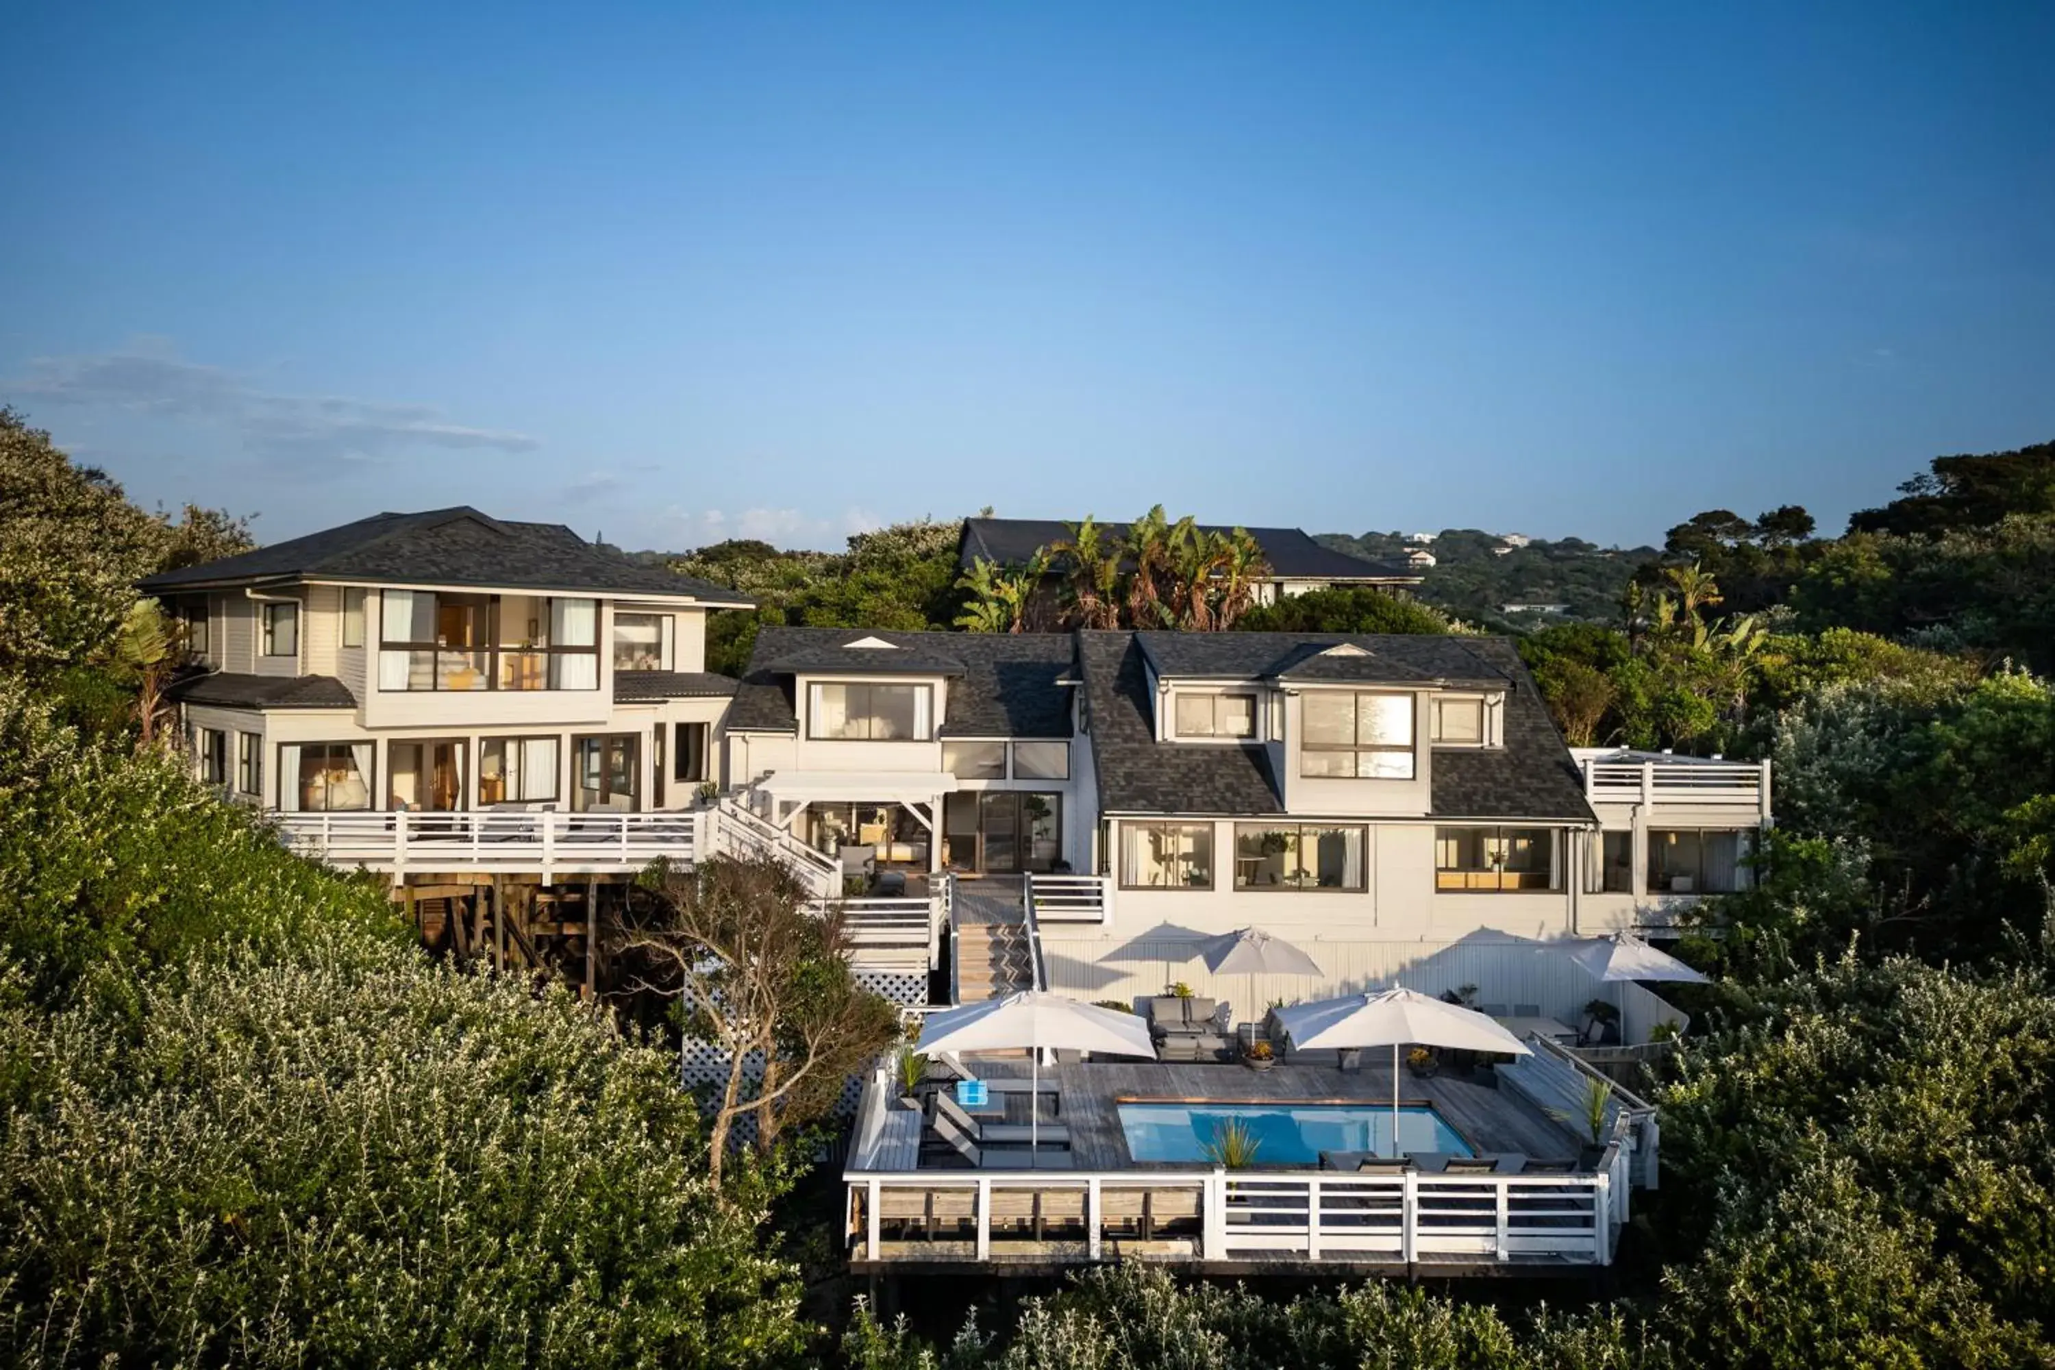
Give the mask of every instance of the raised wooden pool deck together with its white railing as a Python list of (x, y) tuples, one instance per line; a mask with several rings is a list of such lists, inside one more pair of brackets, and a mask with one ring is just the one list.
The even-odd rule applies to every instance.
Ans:
[[(974, 1070), (984, 1080), (1028, 1076), (1019, 1060), (980, 1060)], [(1541, 1074), (1406, 1074), (1399, 1097), (1430, 1103), (1478, 1154), (1576, 1156), (1576, 1134), (1547, 1113), (1576, 1087), (1574, 1066), (1547, 1056)], [(1636, 1148), (1654, 1140), (1646, 1105), (1621, 1099), (1609, 1146), (1580, 1173), (1449, 1175), (1434, 1171), (1434, 1158), (1397, 1175), (1266, 1167), (1262, 1156), (1247, 1171), (1141, 1163), (1128, 1152), (1120, 1103), (1387, 1107), (1391, 1068), (1056, 1064), (1042, 1070), (1042, 1107), (1044, 1121), (1067, 1128), (1067, 1152), (1044, 1148), (1060, 1156), (1058, 1169), (974, 1169), (933, 1146), (923, 1154), (923, 1115), (888, 1095), (882, 1076), (865, 1091), (845, 1171), (849, 1253), (859, 1271), (1040, 1273), (1145, 1257), (1210, 1273), (1303, 1271), (1307, 1263), (1365, 1273), (1570, 1273), (1611, 1261)], [(1009, 1121), (1028, 1121), (1025, 1091), (995, 1095), (1007, 1099)]]

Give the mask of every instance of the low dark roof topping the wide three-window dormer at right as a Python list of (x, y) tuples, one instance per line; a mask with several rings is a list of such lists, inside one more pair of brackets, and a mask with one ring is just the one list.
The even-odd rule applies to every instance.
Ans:
[(1346, 633), (1136, 633), (1157, 676), (1217, 680), (1323, 680), (1362, 684), (1490, 684), (1492, 668), (1465, 637)]

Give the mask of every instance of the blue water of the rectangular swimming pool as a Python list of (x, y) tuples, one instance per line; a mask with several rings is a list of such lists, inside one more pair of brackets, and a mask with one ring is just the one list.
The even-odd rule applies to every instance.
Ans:
[[(1362, 1103), (1122, 1103), (1120, 1128), (1136, 1160), (1206, 1160), (1221, 1124), (1256, 1136), (1256, 1165), (1319, 1165), (1323, 1150), (1391, 1154), (1391, 1107)], [(1469, 1142), (1430, 1107), (1399, 1109), (1399, 1152), (1471, 1154)]]

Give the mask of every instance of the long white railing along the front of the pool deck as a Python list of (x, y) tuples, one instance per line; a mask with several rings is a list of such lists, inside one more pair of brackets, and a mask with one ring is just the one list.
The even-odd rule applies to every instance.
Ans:
[[(1611, 1158), (1609, 1158), (1611, 1160)], [(1151, 1259), (1609, 1265), (1621, 1171), (847, 1171), (859, 1261)], [(894, 1245), (888, 1247), (886, 1243)]]

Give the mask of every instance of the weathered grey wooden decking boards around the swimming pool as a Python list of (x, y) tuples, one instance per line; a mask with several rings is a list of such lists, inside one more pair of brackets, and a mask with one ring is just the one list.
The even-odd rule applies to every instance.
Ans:
[[(980, 1078), (1028, 1078), (1023, 1060), (968, 1060)], [(1391, 1066), (1338, 1070), (1328, 1064), (1286, 1064), (1249, 1070), (1241, 1064), (1087, 1062), (1042, 1068), (1042, 1121), (1071, 1134), (1071, 1165), (1079, 1171), (1190, 1171), (1190, 1160), (1134, 1160), (1120, 1126), (1120, 1103), (1346, 1103), (1391, 1107)], [(1028, 1095), (1007, 1095), (1007, 1121), (1028, 1121)], [(1054, 1099), (1054, 1111), (1050, 1101)], [(1535, 1158), (1576, 1156), (1578, 1136), (1512, 1091), (1494, 1087), (1490, 1072), (1414, 1076), (1399, 1070), (1399, 1103), (1432, 1105), (1478, 1154), (1519, 1152)], [(904, 1115), (917, 1124), (917, 1113)], [(884, 1160), (884, 1156), (880, 1156)], [(908, 1150), (880, 1169), (906, 1167)], [(927, 1148), (921, 1169), (966, 1165)]]

